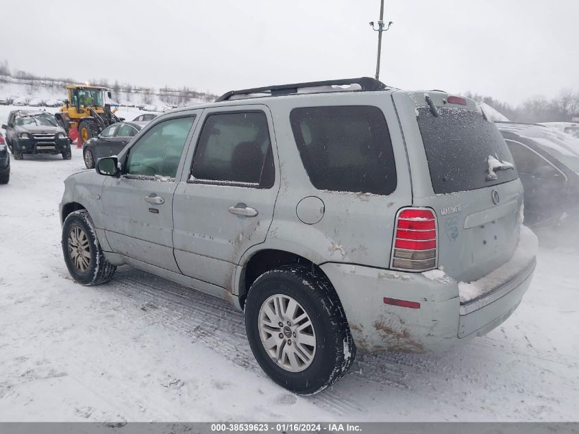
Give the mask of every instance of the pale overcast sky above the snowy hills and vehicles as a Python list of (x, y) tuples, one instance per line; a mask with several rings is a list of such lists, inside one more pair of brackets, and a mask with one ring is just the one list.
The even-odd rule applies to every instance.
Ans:
[[(3, 1), (11, 69), (223, 93), (373, 76), (380, 0)], [(578, 0), (385, 0), (380, 80), (519, 104), (579, 91)]]

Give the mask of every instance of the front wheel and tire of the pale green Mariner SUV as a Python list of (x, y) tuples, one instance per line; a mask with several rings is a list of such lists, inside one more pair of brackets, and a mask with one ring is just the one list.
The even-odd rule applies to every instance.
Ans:
[(108, 282), (116, 271), (106, 260), (86, 210), (73, 211), (64, 219), (62, 254), (71, 276), (83, 285)]

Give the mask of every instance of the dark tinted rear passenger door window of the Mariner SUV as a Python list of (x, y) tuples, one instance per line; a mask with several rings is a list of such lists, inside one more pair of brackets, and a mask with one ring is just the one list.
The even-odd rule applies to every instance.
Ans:
[(275, 179), (264, 112), (210, 114), (191, 168), (193, 181), (270, 187)]

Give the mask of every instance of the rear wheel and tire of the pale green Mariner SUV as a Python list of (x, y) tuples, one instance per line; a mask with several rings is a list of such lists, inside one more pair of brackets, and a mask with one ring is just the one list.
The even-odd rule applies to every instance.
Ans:
[(300, 395), (338, 381), (356, 355), (332, 284), (304, 265), (284, 265), (256, 279), (245, 302), (245, 329), (264, 372)]

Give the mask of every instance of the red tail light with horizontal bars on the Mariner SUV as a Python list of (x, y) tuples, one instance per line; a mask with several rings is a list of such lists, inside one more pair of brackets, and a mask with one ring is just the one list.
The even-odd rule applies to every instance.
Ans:
[(391, 267), (411, 272), (436, 268), (438, 251), (436, 215), (429, 208), (398, 211)]

